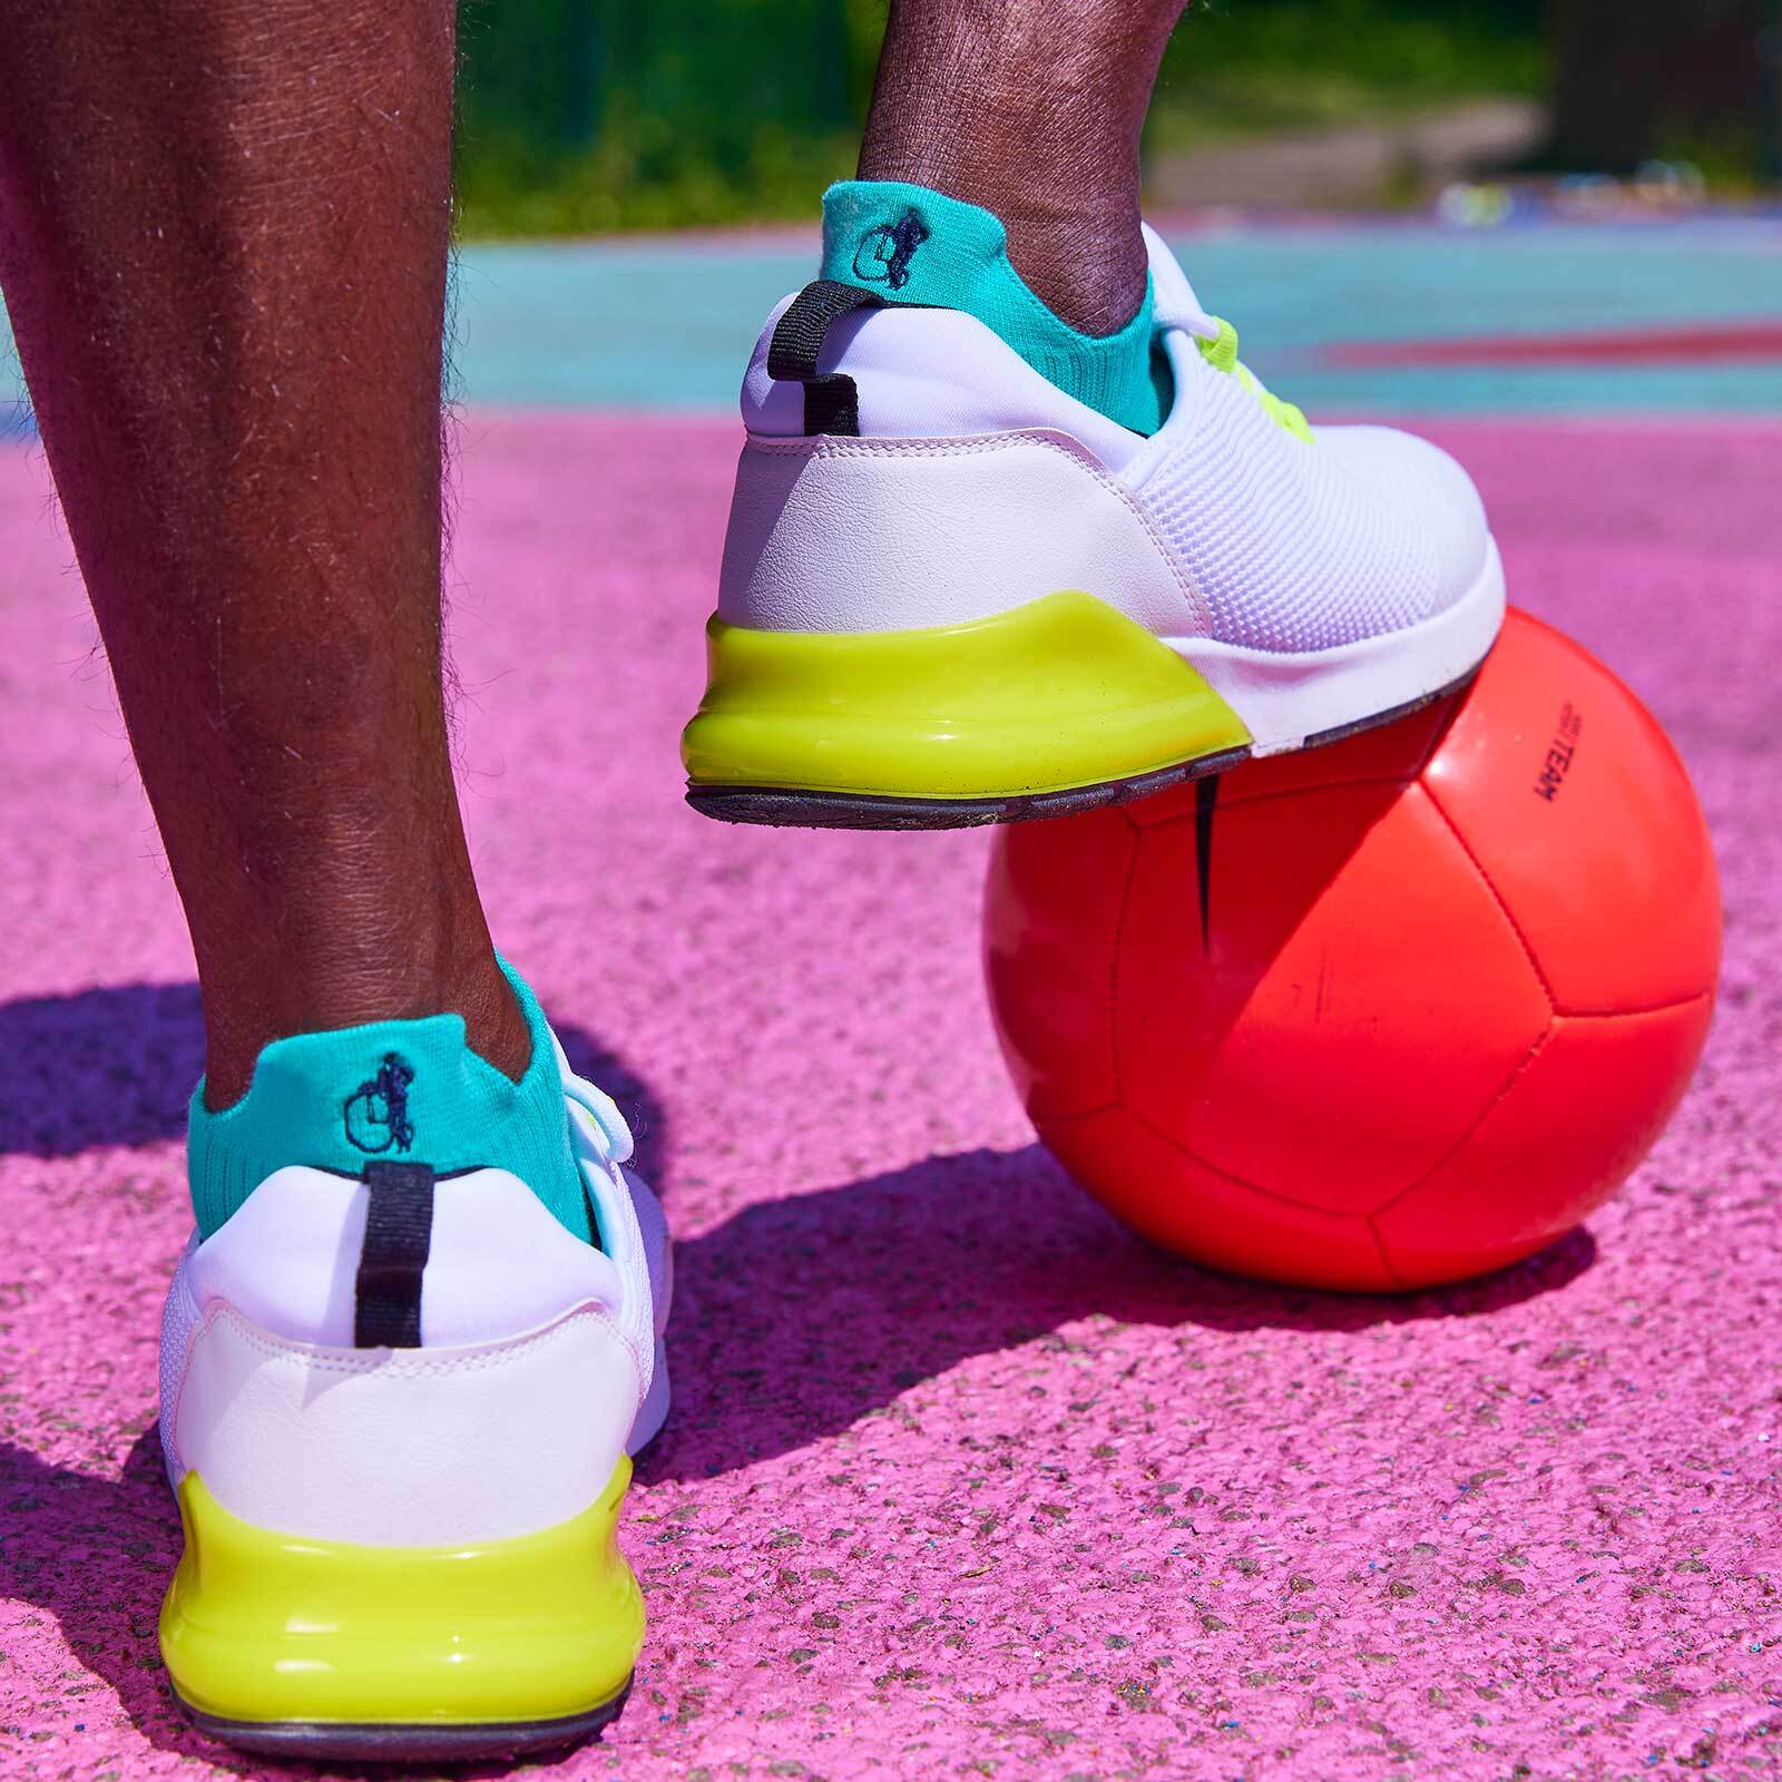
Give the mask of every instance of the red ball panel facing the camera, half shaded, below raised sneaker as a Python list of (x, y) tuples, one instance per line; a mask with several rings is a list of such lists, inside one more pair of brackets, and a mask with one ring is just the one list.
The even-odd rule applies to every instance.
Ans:
[(1484, 1112), (1549, 1005), (1429, 800), (1338, 786), (1219, 811), (1210, 846), (1146, 832), (1114, 1021), (1146, 1121), (1283, 1199), (1367, 1214)]

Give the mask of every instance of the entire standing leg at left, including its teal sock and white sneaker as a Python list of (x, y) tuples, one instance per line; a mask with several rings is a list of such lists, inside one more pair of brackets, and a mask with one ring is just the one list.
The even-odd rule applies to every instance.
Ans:
[(162, 1661), (280, 1757), (572, 1743), (643, 1632), (666, 1233), (453, 789), (453, 0), (0, 0), (0, 271), (205, 998)]

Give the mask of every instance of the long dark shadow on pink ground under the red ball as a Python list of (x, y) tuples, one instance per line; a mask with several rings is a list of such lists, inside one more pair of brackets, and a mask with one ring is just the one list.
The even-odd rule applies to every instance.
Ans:
[(747, 1206), (675, 1246), (674, 1411), (640, 1477), (772, 1459), (957, 1361), (1091, 1313), (1162, 1329), (1360, 1331), (1513, 1306), (1595, 1258), (1579, 1228), (1511, 1269), (1422, 1294), (1274, 1287), (1153, 1247), (1037, 1144), (936, 1157)]

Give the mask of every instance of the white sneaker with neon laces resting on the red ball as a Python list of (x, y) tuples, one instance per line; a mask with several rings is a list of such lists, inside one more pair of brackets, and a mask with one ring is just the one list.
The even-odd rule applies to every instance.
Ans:
[(1174, 380), (1151, 438), (959, 310), (829, 282), (775, 310), (683, 745), (697, 809), (1044, 816), (1345, 736), (1479, 666), (1504, 576), (1467, 472), (1308, 428), (1146, 239)]

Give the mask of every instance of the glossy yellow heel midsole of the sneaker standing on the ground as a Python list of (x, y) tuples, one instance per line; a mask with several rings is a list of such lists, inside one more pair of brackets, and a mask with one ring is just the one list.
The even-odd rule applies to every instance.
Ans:
[(273, 1534), (180, 1483), (185, 1554), (160, 1654), (200, 1713), (246, 1721), (556, 1720), (609, 1702), (643, 1643), (618, 1552), (620, 1459), (570, 1522), (463, 1547)]

